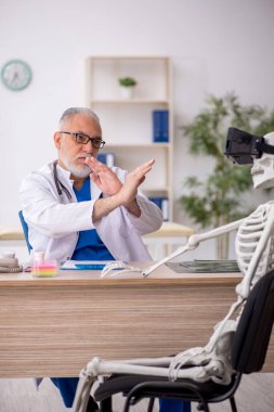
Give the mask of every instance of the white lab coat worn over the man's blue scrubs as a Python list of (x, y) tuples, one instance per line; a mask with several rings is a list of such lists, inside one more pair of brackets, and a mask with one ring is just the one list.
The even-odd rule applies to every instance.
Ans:
[[(113, 170), (123, 182), (127, 172), (117, 167)], [(69, 201), (64, 190), (62, 195), (57, 193), (53, 162), (29, 173), (21, 184), (22, 210), (34, 250), (43, 250), (47, 259), (62, 262), (71, 258), (79, 231), (96, 229), (116, 260), (151, 260), (141, 235), (159, 229), (162, 223), (161, 210), (154, 203), (139, 193), (139, 218), (121, 206), (93, 223), (93, 205), (101, 195), (97, 185), (91, 181), (92, 201), (78, 203), (73, 190), (74, 182), (69, 179), (70, 172), (57, 166), (57, 177), (69, 191), (73, 201)]]

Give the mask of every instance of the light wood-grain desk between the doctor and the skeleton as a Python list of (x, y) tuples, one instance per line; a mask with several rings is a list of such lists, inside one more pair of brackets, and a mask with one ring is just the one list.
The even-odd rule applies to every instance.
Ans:
[[(159, 357), (204, 346), (239, 281), (167, 267), (147, 279), (99, 275), (0, 274), (0, 377), (77, 376), (94, 356)], [(273, 338), (265, 371), (274, 371)]]

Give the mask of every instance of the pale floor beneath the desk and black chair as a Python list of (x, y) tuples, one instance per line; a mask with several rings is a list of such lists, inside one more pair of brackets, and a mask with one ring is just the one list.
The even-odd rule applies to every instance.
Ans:
[[(273, 412), (274, 410), (274, 373), (246, 375), (237, 391), (238, 412)], [(121, 411), (121, 397), (114, 399), (114, 410)], [(133, 411), (144, 412), (143, 400)], [(156, 402), (155, 412), (158, 411)], [(195, 412), (196, 405), (192, 408)], [(73, 412), (66, 409), (58, 390), (50, 379), (43, 379), (39, 390), (34, 379), (0, 379), (0, 412)], [(211, 412), (230, 411), (229, 402), (210, 405)], [(171, 411), (172, 412), (172, 411)]]

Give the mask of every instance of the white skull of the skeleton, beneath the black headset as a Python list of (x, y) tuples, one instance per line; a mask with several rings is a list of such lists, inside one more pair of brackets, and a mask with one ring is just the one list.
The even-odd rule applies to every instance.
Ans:
[[(264, 136), (268, 144), (274, 145), (274, 132)], [(274, 155), (263, 153), (262, 157), (253, 159), (251, 168), (253, 188), (273, 188), (274, 186)]]

